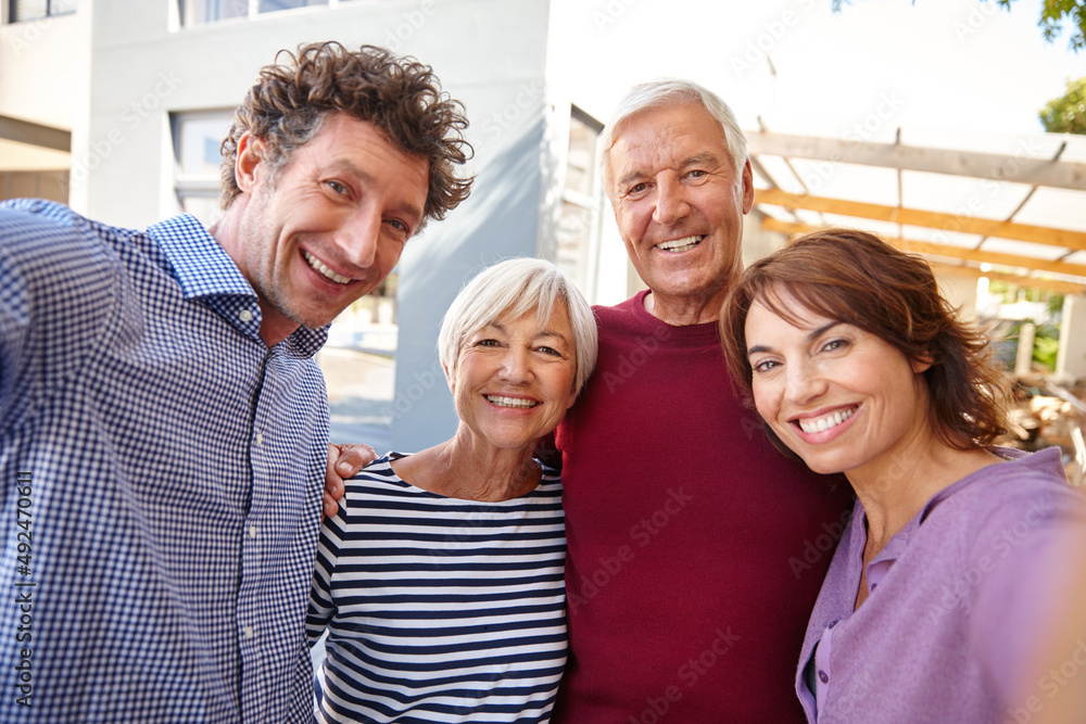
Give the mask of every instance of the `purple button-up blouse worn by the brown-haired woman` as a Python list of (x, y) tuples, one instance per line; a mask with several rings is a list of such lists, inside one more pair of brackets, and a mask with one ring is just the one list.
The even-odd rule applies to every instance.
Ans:
[(1060, 450), (1003, 462), (937, 493), (868, 566), (857, 500), (807, 625), (796, 693), (809, 722), (1003, 721), (1061, 584), (1063, 536), (1086, 520)]

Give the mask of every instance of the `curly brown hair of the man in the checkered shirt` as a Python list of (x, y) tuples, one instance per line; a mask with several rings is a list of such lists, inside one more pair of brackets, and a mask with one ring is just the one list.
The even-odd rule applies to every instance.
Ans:
[[(286, 62), (279, 62), (281, 55)], [(441, 90), (430, 66), (383, 48), (363, 46), (351, 52), (329, 41), (299, 46), (296, 55), (280, 50), (233, 112), (222, 145), (223, 208), (241, 193), (233, 172), (244, 134), (264, 141), (263, 161), (275, 179), (294, 150), (338, 112), (374, 124), (401, 150), (429, 162), (424, 220), (444, 218), (467, 198), (471, 178), (457, 178), (454, 172), (471, 155), (463, 135), (468, 122), (464, 106)]]

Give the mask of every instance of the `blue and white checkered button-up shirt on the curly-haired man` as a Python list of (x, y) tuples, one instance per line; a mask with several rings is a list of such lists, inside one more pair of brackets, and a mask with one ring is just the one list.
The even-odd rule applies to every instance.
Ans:
[(282, 721), (326, 330), (268, 350), (260, 326), (190, 216), (0, 204), (0, 722)]

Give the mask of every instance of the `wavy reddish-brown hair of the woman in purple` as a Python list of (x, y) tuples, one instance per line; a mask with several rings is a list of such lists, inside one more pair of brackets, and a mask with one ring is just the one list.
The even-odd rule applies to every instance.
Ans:
[[(926, 262), (853, 229), (799, 237), (753, 264), (729, 292), (720, 338), (748, 403), (747, 313), (757, 301), (795, 322), (791, 300), (874, 334), (910, 361), (930, 363), (922, 373), (931, 393), (929, 420), (942, 442), (957, 449), (987, 447), (1006, 432), (1006, 386), (984, 333), (958, 319)], [(773, 442), (782, 446), (775, 436)]]

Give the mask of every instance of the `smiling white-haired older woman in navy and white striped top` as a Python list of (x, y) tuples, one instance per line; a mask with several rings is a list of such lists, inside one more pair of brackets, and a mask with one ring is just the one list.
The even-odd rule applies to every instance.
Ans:
[(321, 529), (321, 722), (550, 720), (566, 538), (561, 483), (533, 452), (595, 366), (595, 319), (553, 264), (510, 259), (459, 293), (438, 346), (456, 434), (371, 462)]

